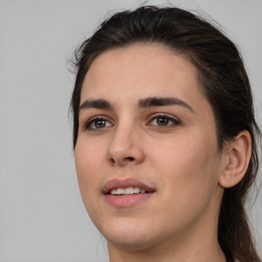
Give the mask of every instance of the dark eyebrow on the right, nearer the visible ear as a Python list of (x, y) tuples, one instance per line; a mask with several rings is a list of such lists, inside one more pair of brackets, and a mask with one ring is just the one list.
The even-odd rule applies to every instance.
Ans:
[(179, 105), (184, 106), (195, 114), (192, 107), (185, 101), (177, 97), (147, 97), (138, 101), (138, 108), (165, 106), (165, 105)]

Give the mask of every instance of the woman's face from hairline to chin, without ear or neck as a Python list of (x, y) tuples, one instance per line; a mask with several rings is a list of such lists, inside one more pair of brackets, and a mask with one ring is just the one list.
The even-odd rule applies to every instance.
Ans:
[(196, 75), (156, 46), (106, 51), (91, 64), (75, 162), (84, 205), (108, 245), (135, 250), (216, 230), (219, 153)]

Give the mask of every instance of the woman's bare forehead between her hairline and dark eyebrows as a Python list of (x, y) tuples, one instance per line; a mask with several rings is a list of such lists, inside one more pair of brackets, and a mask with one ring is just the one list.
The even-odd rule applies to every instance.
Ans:
[(197, 70), (181, 55), (158, 46), (108, 50), (94, 59), (85, 76), (80, 104), (86, 99), (130, 101), (149, 96), (204, 99)]

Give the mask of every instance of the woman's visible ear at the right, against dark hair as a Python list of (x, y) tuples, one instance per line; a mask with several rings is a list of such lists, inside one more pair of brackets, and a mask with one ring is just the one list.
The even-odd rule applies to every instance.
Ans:
[(245, 176), (251, 157), (252, 141), (247, 130), (239, 133), (222, 153), (222, 172), (219, 184), (224, 187), (236, 185)]

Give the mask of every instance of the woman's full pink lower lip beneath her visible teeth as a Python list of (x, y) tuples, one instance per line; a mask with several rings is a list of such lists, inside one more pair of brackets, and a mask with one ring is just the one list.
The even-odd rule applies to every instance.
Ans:
[(151, 197), (154, 192), (139, 193), (131, 195), (105, 194), (106, 201), (114, 207), (132, 207)]

